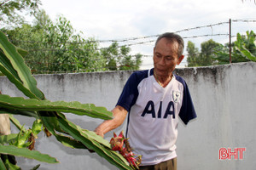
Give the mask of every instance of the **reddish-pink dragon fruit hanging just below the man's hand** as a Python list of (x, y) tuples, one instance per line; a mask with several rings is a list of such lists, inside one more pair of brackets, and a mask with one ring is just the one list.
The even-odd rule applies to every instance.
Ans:
[(124, 131), (119, 133), (119, 136), (113, 133), (113, 138), (110, 139), (109, 144), (111, 144), (112, 150), (119, 151), (119, 153), (125, 157), (125, 160), (130, 163), (133, 169), (139, 169), (138, 166), (141, 163), (142, 156), (136, 157), (135, 154), (132, 153), (128, 139), (125, 139)]

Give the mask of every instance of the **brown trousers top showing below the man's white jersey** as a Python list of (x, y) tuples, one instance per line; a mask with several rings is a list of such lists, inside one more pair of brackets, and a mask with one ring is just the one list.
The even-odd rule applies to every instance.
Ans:
[(177, 170), (177, 157), (169, 160), (162, 161), (156, 165), (141, 166), (140, 170)]

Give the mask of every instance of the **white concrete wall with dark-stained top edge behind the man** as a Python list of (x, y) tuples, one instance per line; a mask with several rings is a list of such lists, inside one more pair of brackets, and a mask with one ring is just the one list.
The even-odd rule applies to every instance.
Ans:
[[(77, 100), (113, 109), (122, 88), (132, 71), (113, 71), (61, 75), (35, 76), (40, 88), (49, 100)], [(178, 127), (178, 170), (247, 169), (256, 167), (256, 63), (240, 63), (212, 67), (177, 69), (194, 100), (198, 118)], [(10, 96), (23, 96), (0, 77), (0, 91)], [(87, 116), (67, 114), (68, 119), (83, 128), (94, 130), (102, 122)], [(31, 125), (32, 118), (19, 116), (20, 122)], [(115, 132), (125, 130), (125, 124)], [(13, 127), (13, 132), (15, 128)], [(107, 139), (113, 133), (106, 135)], [(218, 150), (230, 147), (246, 148), (243, 160), (218, 160)], [(46, 164), (20, 158), (23, 169), (41, 164), (39, 169), (117, 169), (108, 161), (87, 150), (73, 150), (59, 144), (54, 137), (41, 133), (36, 149), (55, 156), (60, 164)]]

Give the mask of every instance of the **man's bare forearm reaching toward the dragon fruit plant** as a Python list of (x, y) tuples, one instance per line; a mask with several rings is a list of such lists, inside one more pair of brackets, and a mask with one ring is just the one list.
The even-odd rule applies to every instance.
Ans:
[(105, 133), (108, 133), (109, 131), (115, 129), (116, 127), (119, 127), (125, 121), (125, 117), (127, 115), (127, 111), (125, 110), (125, 108), (117, 105), (112, 112), (113, 119), (102, 122), (102, 124), (100, 124), (94, 130), (94, 132), (102, 136), (102, 138), (104, 137)]

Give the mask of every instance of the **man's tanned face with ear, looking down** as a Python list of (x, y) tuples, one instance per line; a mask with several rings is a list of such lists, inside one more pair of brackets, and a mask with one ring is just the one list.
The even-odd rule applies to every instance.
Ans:
[(161, 38), (154, 48), (154, 71), (159, 77), (170, 77), (176, 65), (183, 60), (183, 55), (178, 58), (178, 43), (169, 42)]

